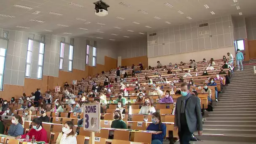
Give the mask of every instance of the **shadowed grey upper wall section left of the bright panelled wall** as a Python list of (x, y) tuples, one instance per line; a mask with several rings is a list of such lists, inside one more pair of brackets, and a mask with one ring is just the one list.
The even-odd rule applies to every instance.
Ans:
[(138, 56), (147, 56), (147, 37), (119, 42), (117, 44), (117, 56), (122, 59), (133, 58)]

